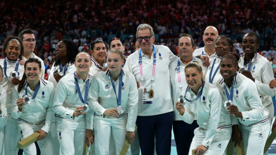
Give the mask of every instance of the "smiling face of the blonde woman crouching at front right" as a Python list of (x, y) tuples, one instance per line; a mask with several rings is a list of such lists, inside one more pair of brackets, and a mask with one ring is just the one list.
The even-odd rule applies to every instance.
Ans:
[(198, 91), (202, 84), (203, 73), (199, 72), (196, 67), (185, 68), (185, 79), (192, 90)]

